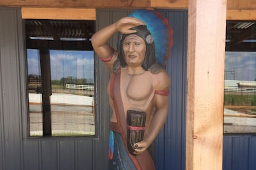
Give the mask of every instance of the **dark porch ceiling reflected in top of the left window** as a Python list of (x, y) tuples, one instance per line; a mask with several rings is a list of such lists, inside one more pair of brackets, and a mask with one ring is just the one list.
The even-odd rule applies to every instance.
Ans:
[(27, 48), (92, 50), (95, 20), (25, 20)]

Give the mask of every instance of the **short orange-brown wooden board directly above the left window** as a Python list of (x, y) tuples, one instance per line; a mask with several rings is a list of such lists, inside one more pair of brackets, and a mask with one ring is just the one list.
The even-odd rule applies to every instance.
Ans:
[(96, 20), (95, 9), (21, 8), (23, 19)]

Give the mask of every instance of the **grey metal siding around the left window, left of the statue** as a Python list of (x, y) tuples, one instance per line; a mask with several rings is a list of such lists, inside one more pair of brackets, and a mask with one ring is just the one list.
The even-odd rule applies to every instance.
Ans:
[(96, 73), (102, 73), (97, 77), (96, 138), (28, 138), (23, 26), (20, 9), (0, 8), (0, 169), (105, 169), (110, 113), (106, 67), (96, 62)]

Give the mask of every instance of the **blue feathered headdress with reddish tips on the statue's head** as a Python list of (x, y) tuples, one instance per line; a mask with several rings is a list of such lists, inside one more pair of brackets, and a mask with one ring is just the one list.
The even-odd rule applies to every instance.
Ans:
[(156, 61), (159, 65), (165, 66), (166, 60), (170, 58), (173, 45), (173, 30), (166, 18), (161, 13), (152, 10), (137, 10), (129, 17), (138, 18), (147, 25), (148, 31), (154, 38)]

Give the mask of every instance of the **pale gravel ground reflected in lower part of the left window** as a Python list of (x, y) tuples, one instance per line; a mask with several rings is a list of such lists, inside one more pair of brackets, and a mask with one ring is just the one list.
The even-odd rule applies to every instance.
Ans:
[[(95, 134), (93, 97), (53, 93), (51, 103), (52, 134)], [(31, 136), (42, 136), (42, 94), (29, 93), (29, 123)]]

